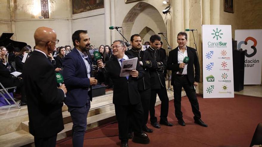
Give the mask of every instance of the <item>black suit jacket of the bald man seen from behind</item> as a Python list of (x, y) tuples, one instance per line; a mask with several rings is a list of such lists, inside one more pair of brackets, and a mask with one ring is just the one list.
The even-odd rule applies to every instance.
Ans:
[(64, 92), (57, 88), (54, 66), (46, 56), (33, 51), (23, 67), (29, 115), (29, 132), (35, 137), (51, 137), (64, 129)]

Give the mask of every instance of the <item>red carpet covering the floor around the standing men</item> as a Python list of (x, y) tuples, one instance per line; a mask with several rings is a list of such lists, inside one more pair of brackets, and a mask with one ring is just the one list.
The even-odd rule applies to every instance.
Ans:
[[(169, 102), (168, 120), (173, 127), (161, 125), (148, 133), (150, 143), (147, 145), (133, 143), (130, 147), (247, 147), (250, 145), (257, 124), (262, 122), (262, 98), (235, 94), (235, 98), (203, 99), (198, 97), (202, 120), (208, 127), (194, 124), (191, 105), (187, 97), (182, 98), (183, 119), (185, 127), (177, 124), (174, 116), (174, 101)], [(160, 115), (160, 105), (156, 106), (156, 116)], [(159, 120), (158, 120), (159, 121)], [(118, 124), (112, 123), (96, 128), (85, 134), (85, 147), (115, 147), (118, 140)], [(71, 137), (57, 141), (57, 147), (71, 147)]]

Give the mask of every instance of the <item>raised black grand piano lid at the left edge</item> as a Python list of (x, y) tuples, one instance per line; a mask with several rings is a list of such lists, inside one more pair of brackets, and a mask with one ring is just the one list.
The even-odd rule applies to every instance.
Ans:
[(2, 33), (0, 36), (0, 46), (6, 47), (9, 52), (13, 52), (14, 48), (24, 48), (27, 44), (25, 42), (14, 41), (10, 39), (14, 33)]

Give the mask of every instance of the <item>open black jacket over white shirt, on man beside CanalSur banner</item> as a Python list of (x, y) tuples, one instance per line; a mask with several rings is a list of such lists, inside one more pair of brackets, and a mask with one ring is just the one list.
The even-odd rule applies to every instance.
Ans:
[[(194, 82), (200, 81), (200, 66), (199, 61), (197, 57), (197, 52), (194, 48), (190, 48), (186, 46), (187, 48), (187, 54), (189, 57), (189, 61), (187, 64), (187, 78), (191, 84)], [(172, 70), (172, 78), (171, 78), (171, 85), (174, 85), (174, 78), (177, 75), (179, 68), (179, 63), (177, 61), (177, 53), (178, 53), (178, 47), (174, 50), (171, 50), (169, 52), (169, 56), (167, 59), (167, 69)], [(194, 72), (195, 67), (195, 72)]]

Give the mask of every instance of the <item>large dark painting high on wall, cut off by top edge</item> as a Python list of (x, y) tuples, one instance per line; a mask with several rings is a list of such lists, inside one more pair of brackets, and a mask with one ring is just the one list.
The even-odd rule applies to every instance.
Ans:
[(104, 8), (104, 0), (73, 0), (73, 14)]

